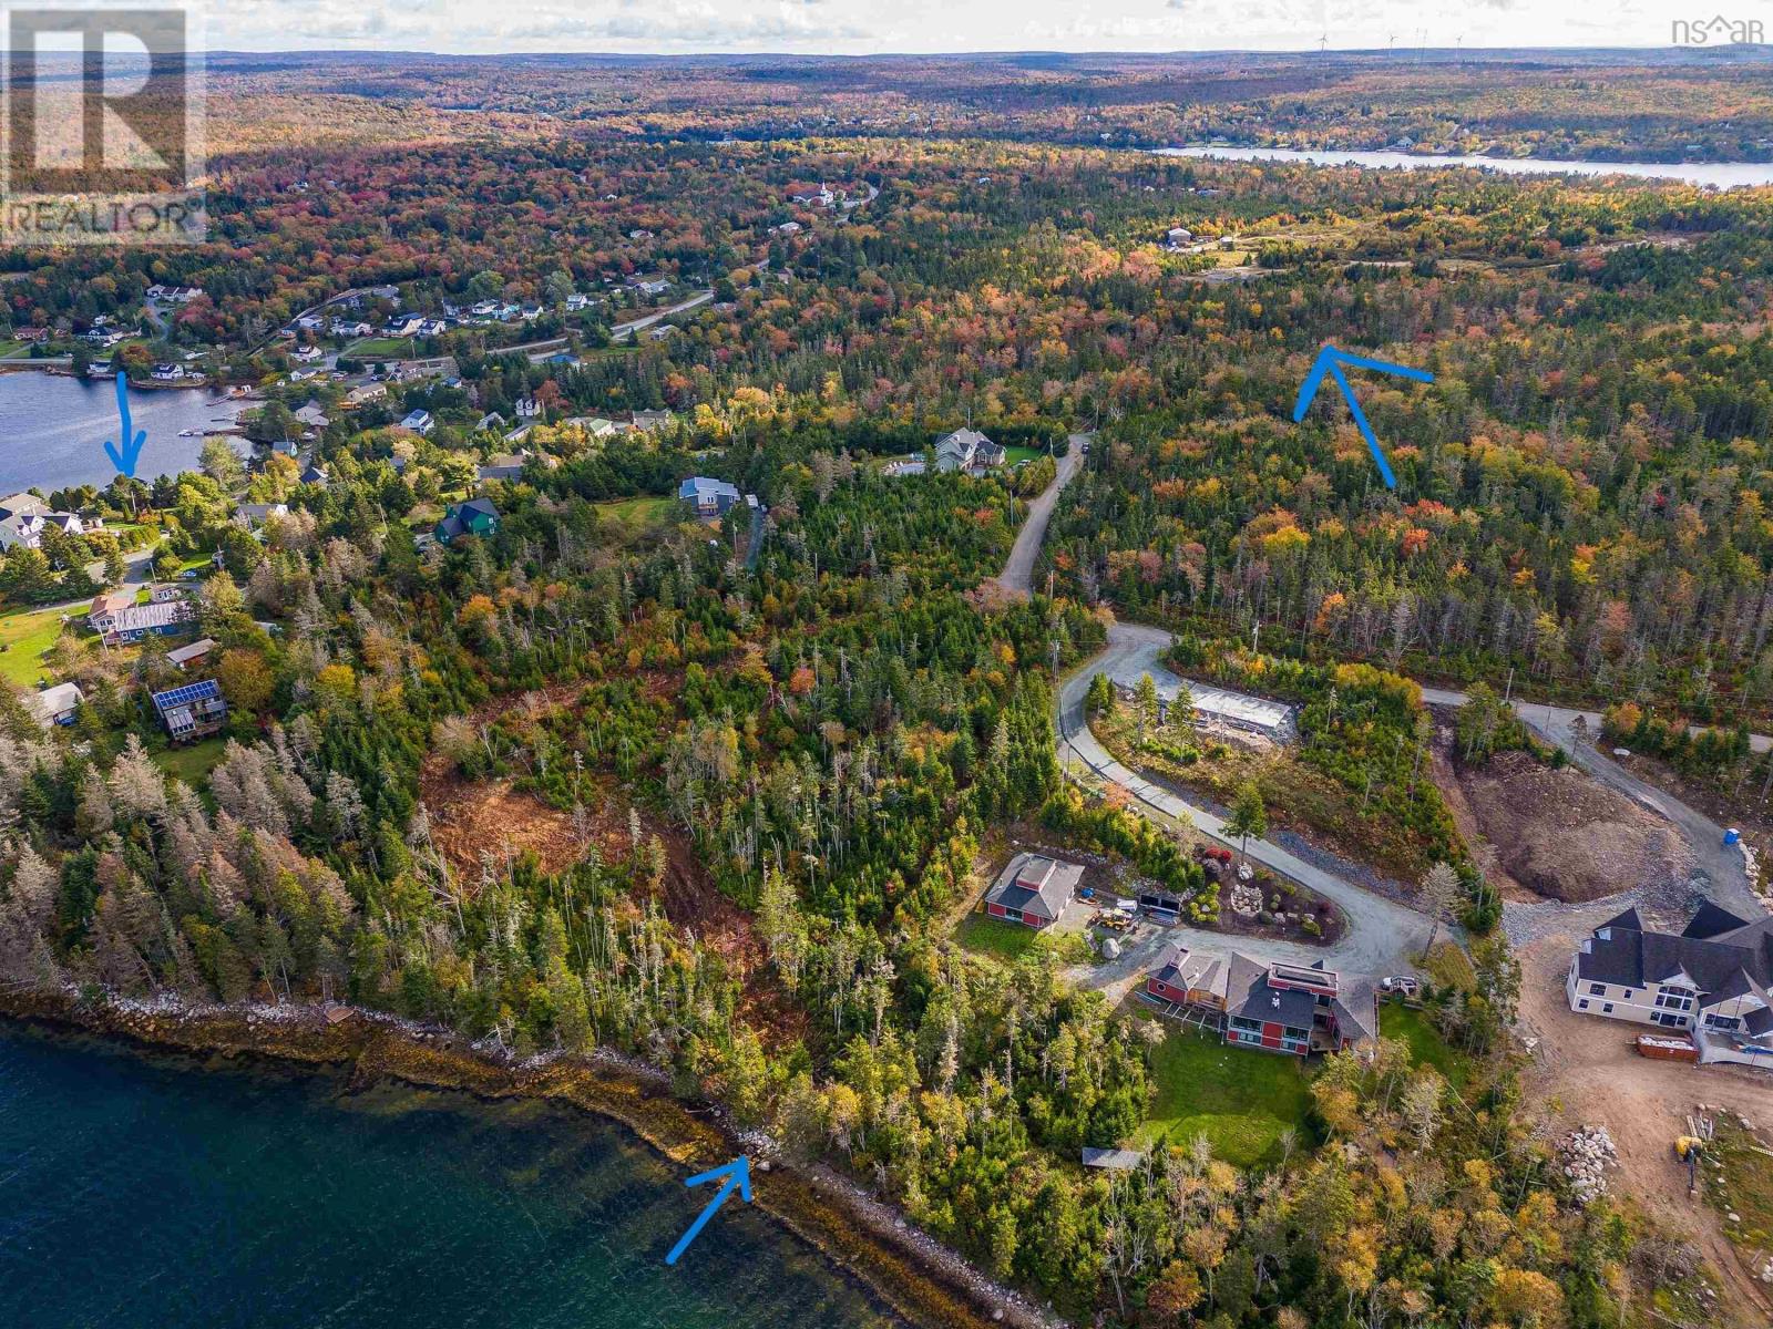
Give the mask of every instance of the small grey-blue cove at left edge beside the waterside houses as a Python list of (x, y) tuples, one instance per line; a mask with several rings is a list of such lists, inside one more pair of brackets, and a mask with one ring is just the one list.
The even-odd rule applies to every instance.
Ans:
[[(129, 392), (129, 416), (147, 431), (135, 473), (142, 480), (197, 470), (202, 438), (183, 429), (223, 429), (241, 402), (215, 404), (207, 388)], [(76, 484), (106, 486), (117, 468), (105, 443), (117, 441), (115, 379), (74, 379), (43, 370), (0, 374), (0, 494)]]

